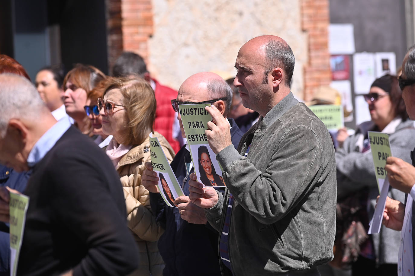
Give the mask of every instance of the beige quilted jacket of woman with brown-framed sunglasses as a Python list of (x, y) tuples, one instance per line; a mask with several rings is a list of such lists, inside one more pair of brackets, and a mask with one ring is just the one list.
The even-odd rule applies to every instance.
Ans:
[[(173, 160), (174, 151), (160, 133), (154, 132), (169, 162)], [(144, 163), (150, 161), (150, 140), (133, 147), (118, 162), (117, 172), (120, 174), (122, 188), (124, 189), (125, 205), (127, 206), (128, 227), (132, 230), (139, 248), (139, 267), (131, 275), (162, 275), (164, 262), (157, 248), (157, 241), (164, 229), (156, 222), (151, 213), (149, 191), (141, 185), (141, 175)], [(148, 252), (147, 252), (148, 250)]]

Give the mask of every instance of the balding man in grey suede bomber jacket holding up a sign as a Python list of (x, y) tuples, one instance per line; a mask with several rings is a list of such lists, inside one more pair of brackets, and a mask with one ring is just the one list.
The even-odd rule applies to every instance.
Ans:
[(278, 36), (258, 36), (240, 48), (234, 85), (244, 107), (261, 117), (237, 150), (219, 110), (206, 107), (213, 118), (206, 136), (226, 193), (190, 174), (189, 198), (220, 233), (222, 275), (317, 276), (317, 266), (333, 258), (334, 147), (322, 121), (290, 92), (294, 62)]

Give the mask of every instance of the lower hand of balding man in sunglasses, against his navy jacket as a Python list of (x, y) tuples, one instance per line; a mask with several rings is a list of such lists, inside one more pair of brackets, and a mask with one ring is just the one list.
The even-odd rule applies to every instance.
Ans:
[(183, 220), (193, 224), (206, 224), (207, 219), (205, 210), (192, 203), (188, 196), (179, 196), (174, 204), (179, 208), (180, 216)]

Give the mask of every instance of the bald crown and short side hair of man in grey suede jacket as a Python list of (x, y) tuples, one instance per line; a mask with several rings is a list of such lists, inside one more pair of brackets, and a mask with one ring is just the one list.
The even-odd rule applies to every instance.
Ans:
[[(273, 68), (283, 68), (286, 73), (285, 85), (290, 86), (293, 77), (295, 57), (293, 50), (287, 42), (279, 36), (257, 36), (245, 43), (242, 48), (249, 48), (251, 51), (257, 51), (264, 56), (264, 80), (263, 84), (268, 83), (267, 75)], [(240, 50), (239, 50), (240, 51)]]

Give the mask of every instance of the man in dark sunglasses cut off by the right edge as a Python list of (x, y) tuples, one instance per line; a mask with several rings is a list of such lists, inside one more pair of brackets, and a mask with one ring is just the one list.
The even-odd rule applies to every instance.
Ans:
[[(415, 45), (406, 53), (398, 82), (409, 119), (415, 120)], [(408, 275), (414, 275), (415, 265), (415, 149), (410, 156), (412, 165), (400, 158), (388, 157), (385, 167), (391, 186), (407, 194), (405, 205), (388, 197), (382, 222), (388, 228), (402, 230), (398, 253), (399, 275), (406, 275), (406, 271)]]

